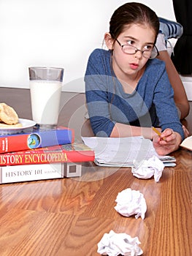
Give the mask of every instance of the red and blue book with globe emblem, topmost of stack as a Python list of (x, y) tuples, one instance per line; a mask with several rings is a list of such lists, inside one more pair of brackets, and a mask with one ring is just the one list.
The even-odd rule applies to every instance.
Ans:
[(57, 127), (41, 130), (34, 127), (31, 132), (0, 136), (0, 154), (42, 148), (74, 142), (74, 129)]

